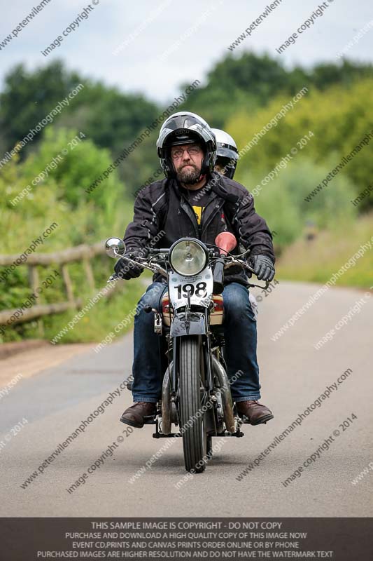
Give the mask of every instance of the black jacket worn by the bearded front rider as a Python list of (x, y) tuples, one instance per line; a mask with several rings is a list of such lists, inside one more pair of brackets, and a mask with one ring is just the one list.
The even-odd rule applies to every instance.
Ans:
[[(156, 181), (141, 189), (134, 203), (133, 222), (128, 224), (125, 231), (127, 250), (169, 248), (185, 236), (213, 244), (220, 232), (230, 231), (239, 244), (251, 249), (249, 257), (267, 255), (274, 262), (272, 234), (265, 219), (255, 212), (253, 196), (247, 189), (216, 172), (211, 174), (209, 182), (202, 189), (207, 202), (204, 203), (200, 225), (197, 224), (192, 205), (176, 180)], [(190, 191), (190, 197), (193, 198), (198, 192)], [(157, 236), (160, 232), (164, 234)], [(232, 254), (237, 255), (239, 252), (237, 245)], [(153, 280), (164, 281), (164, 278), (154, 275)], [(227, 269), (225, 284), (232, 282), (248, 285), (248, 277), (241, 267)]]

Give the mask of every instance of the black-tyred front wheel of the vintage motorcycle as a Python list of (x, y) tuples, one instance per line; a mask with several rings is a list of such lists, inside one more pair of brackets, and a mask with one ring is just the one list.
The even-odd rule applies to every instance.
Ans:
[(204, 363), (202, 338), (181, 337), (179, 342), (179, 411), (183, 428), (183, 452), (186, 471), (202, 473), (206, 468), (207, 435), (202, 402)]

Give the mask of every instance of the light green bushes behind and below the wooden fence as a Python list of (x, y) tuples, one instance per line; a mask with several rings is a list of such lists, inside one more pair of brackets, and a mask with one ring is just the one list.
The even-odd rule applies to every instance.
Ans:
[[(97, 175), (110, 165), (111, 156), (107, 150), (97, 148), (91, 140), (79, 135), (74, 146), (71, 140), (76, 135), (76, 130), (48, 128), (36, 151), (24, 162), (18, 163), (19, 156), (16, 156), (0, 169), (0, 197), (5, 201), (0, 222), (3, 254), (21, 255), (53, 223), (57, 227), (43, 238), (43, 244), (38, 245), (36, 252), (54, 252), (80, 243), (96, 243), (113, 235), (122, 236), (132, 218), (132, 203), (122, 196), (123, 187), (116, 170), (102, 187), (97, 187), (92, 194), (85, 192)], [(63, 157), (57, 158), (58, 155)], [(51, 165), (52, 161), (56, 165)], [(36, 181), (36, 177), (41, 180)], [(27, 186), (30, 188), (24, 190)], [(22, 191), (25, 195), (20, 197)], [(113, 271), (113, 260), (104, 255), (95, 257), (91, 263), (97, 288), (102, 288)], [(41, 293), (38, 304), (66, 301), (61, 267), (38, 266), (37, 269), (40, 285), (50, 274), (55, 276), (52, 285)], [(0, 268), (0, 273), (3, 270), (5, 268)], [(54, 270), (59, 276), (52, 273)], [(5, 282), (0, 281), (0, 309), (18, 308), (31, 295), (28, 272), (28, 267), (21, 264)], [(89, 299), (92, 293), (82, 263), (69, 264), (69, 273), (74, 296), (83, 301)], [(118, 297), (118, 306), (115, 304), (117, 297), (109, 303), (97, 304), (94, 306), (96, 311), (90, 313), (90, 324), (80, 322), (79, 330), (71, 330), (66, 341), (101, 339), (106, 326), (111, 322), (118, 323), (123, 310), (132, 308), (136, 303), (134, 298), (141, 292), (143, 285), (135, 281), (131, 290)], [(45, 337), (57, 333), (59, 326), (65, 325), (74, 313), (76, 311), (44, 318)], [(0, 341), (38, 335), (37, 322), (31, 321), (7, 326)]]

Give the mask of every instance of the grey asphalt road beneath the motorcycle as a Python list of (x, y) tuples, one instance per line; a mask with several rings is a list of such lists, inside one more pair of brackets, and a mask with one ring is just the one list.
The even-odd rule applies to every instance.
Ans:
[[(244, 438), (226, 438), (206, 472), (178, 487), (185, 476), (179, 439), (172, 441), (150, 470), (130, 482), (169, 440), (153, 439), (153, 426), (134, 429), (127, 437), (122, 433), (126, 426), (119, 417), (132, 402), (127, 390), (115, 396), (104, 414), (94, 418), (50, 465), (45, 464), (42, 474), (25, 489), (21, 487), (129, 376), (132, 334), (98, 354), (80, 353), (22, 379), (0, 400), (0, 515), (372, 516), (373, 471), (369, 468), (356, 485), (351, 481), (373, 461), (373, 298), (319, 350), (314, 344), (364, 292), (330, 289), (282, 337), (271, 339), (317, 288), (281, 282), (260, 302), (262, 403), (272, 408), (274, 420), (264, 426), (245, 425)], [(22, 368), (27, 370), (27, 365), (23, 363)], [(278, 439), (257, 461), (258, 466), (237, 480), (348, 369), (351, 372), (320, 402), (321, 407), (311, 410), (300, 426)], [(351, 419), (352, 414), (357, 419)], [(347, 417), (349, 426), (340, 426)], [(285, 487), (282, 482), (333, 433), (329, 449), (321, 448), (316, 461), (310, 461)], [(83, 477), (84, 485), (69, 493), (66, 489), (113, 442), (113, 455), (107, 455), (104, 464)]]

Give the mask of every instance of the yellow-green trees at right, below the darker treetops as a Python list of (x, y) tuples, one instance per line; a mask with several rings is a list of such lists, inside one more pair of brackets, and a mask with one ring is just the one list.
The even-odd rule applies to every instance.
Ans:
[[(321, 92), (309, 91), (301, 100), (289, 109), (282, 119), (274, 123), (267, 132), (263, 128), (278, 114), (283, 104), (288, 102), (286, 96), (276, 97), (272, 102), (252, 116), (247, 111), (240, 111), (232, 117), (226, 127), (235, 138), (239, 149), (246, 147), (246, 154), (239, 163), (239, 173), (245, 170), (261, 170), (266, 175), (291, 149), (313, 160), (316, 164), (328, 163), (325, 175), (312, 174), (313, 187), (323, 181), (326, 175), (341, 163), (343, 156), (359, 144), (367, 133), (373, 134), (373, 98), (371, 95), (373, 79), (356, 81), (349, 87), (332, 86)], [(298, 142), (314, 133), (304, 147)], [(260, 133), (257, 144), (252, 140)], [(355, 196), (372, 183), (373, 160), (371, 157), (373, 138), (353, 159), (344, 165), (339, 175), (348, 177), (355, 185)], [(299, 158), (300, 154), (294, 156)], [(328, 190), (334, 189), (336, 179), (328, 184)], [(307, 195), (307, 194), (306, 194)], [(322, 199), (318, 194), (316, 199)], [(308, 203), (316, 205), (316, 202)], [(367, 196), (359, 206), (360, 210), (373, 205), (372, 196)]]

